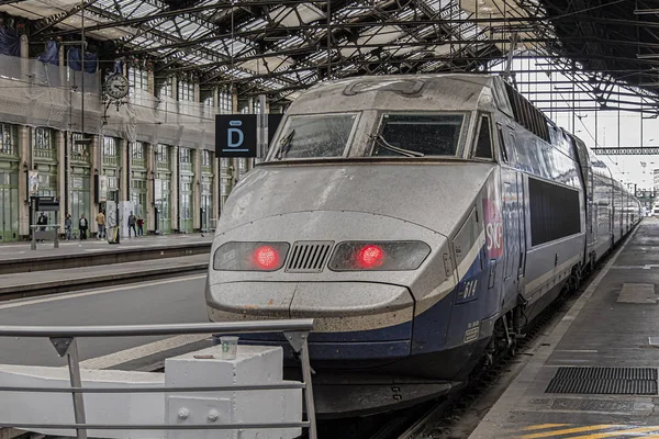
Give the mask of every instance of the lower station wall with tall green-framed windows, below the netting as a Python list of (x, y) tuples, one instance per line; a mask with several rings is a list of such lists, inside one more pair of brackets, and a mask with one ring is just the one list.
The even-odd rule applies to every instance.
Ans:
[[(91, 142), (76, 143), (82, 138)], [(105, 200), (132, 201), (145, 234), (209, 230), (217, 218), (213, 151), (0, 122), (0, 241), (30, 235), (33, 172), (38, 189), (32, 195), (59, 198), (59, 213), (46, 213), (48, 224), (64, 225), (70, 213), (76, 235), (82, 214), (97, 233)], [(101, 180), (107, 191), (97, 187)]]

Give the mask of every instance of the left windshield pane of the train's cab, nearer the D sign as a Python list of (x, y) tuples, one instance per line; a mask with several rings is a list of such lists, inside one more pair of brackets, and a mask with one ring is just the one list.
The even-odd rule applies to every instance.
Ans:
[(342, 157), (357, 114), (290, 116), (272, 159)]

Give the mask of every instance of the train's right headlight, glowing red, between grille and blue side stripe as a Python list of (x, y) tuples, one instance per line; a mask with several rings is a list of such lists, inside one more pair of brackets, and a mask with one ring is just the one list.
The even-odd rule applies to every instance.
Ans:
[(336, 246), (330, 260), (334, 271), (416, 270), (431, 254), (421, 241), (346, 241)]

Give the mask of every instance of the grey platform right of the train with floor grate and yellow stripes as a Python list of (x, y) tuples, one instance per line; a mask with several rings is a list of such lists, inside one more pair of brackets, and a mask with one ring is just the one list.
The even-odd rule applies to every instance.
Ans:
[(470, 439), (659, 438), (659, 219), (614, 250)]

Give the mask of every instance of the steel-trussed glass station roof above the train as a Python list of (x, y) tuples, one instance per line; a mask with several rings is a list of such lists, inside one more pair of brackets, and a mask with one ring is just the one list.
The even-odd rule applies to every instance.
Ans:
[[(111, 41), (156, 75), (291, 99), (327, 77), (488, 71), (544, 57), (606, 105), (613, 85), (657, 102), (651, 0), (0, 0), (31, 41)], [(330, 16), (330, 20), (328, 20)], [(599, 94), (597, 94), (599, 93)]]

